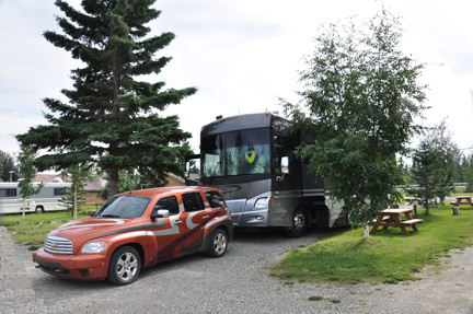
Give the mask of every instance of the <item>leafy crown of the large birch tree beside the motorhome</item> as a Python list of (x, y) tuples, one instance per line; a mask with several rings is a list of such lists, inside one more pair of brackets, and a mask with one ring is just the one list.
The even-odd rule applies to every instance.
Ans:
[(309, 69), (301, 72), (302, 101), (285, 106), (313, 140), (298, 153), (326, 177), (331, 196), (366, 225), (400, 198), (395, 187), (404, 184), (404, 168), (396, 156), (406, 154), (420, 129), (414, 119), (425, 109), (425, 86), (417, 83), (423, 66), (397, 48), (396, 18), (382, 10), (364, 26), (322, 28)]

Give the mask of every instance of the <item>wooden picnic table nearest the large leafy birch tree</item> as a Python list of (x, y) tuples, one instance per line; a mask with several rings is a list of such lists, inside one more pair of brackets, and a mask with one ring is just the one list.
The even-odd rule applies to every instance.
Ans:
[[(384, 209), (379, 212), (379, 216), (373, 221), (373, 228), (371, 230), (371, 234), (374, 234), (378, 231), (378, 228), (382, 226), (383, 230), (387, 230), (389, 226), (394, 226), (401, 229), (402, 233), (408, 235), (408, 231), (406, 226), (412, 226), (414, 231), (418, 231), (417, 223), (424, 223), (423, 219), (413, 219), (411, 217), (411, 212), (413, 209), (404, 208), (404, 209)], [(401, 214), (404, 214), (406, 219), (401, 219)]]

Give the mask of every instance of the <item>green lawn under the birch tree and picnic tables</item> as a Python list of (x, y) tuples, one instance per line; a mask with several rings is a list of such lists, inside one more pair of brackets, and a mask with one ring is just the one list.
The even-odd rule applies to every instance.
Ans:
[[(300, 282), (385, 282), (415, 280), (424, 266), (438, 263), (452, 248), (473, 244), (473, 209), (451, 206), (418, 210), (418, 232), (403, 235), (400, 229), (378, 230), (367, 241), (361, 229), (334, 230), (322, 241), (292, 249), (272, 269), (272, 276)], [(371, 229), (371, 228), (370, 228)]]

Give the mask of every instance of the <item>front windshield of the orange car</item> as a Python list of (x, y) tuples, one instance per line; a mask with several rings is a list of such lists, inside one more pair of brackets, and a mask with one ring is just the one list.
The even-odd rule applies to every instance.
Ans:
[(115, 196), (99, 209), (95, 217), (137, 218), (143, 214), (150, 201), (150, 197), (131, 195)]

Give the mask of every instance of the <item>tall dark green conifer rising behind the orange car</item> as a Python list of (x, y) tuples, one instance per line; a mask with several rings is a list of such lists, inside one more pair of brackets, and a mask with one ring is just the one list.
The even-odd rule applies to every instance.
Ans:
[(47, 31), (44, 36), (85, 66), (71, 70), (73, 89), (61, 91), (69, 103), (44, 100), (49, 124), (18, 136), (23, 144), (48, 150), (36, 160), (41, 170), (94, 164), (107, 174), (108, 196), (117, 191), (119, 170), (138, 170), (155, 185), (165, 173), (183, 174), (191, 135), (180, 129), (177, 116), (158, 112), (197, 90), (139, 80), (160, 73), (171, 60), (154, 55), (174, 34), (147, 36), (151, 30), (146, 24), (160, 15), (153, 3), (83, 0), (83, 10), (76, 10), (55, 2), (66, 15), (56, 18), (64, 34)]

